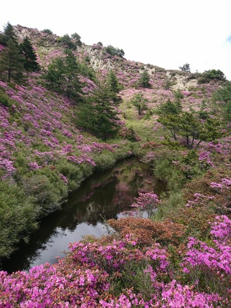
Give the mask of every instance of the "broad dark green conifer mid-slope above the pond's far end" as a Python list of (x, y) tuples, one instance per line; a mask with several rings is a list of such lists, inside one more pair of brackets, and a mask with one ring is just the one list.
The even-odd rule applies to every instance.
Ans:
[(105, 85), (95, 89), (76, 111), (76, 123), (103, 139), (115, 136), (119, 129), (117, 120), (119, 118), (113, 106), (113, 95)]

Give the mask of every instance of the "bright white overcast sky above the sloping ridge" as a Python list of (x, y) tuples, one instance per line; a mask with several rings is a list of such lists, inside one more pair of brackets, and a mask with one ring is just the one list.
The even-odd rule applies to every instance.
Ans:
[(220, 69), (231, 80), (230, 15), (230, 0), (11, 0), (1, 3), (0, 27), (77, 32), (85, 44), (123, 49), (128, 60)]

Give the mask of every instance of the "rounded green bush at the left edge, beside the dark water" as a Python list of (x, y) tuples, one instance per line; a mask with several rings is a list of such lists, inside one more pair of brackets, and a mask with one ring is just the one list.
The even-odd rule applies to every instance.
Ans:
[(15, 250), (20, 239), (36, 228), (38, 208), (16, 184), (0, 181), (0, 257), (7, 257)]

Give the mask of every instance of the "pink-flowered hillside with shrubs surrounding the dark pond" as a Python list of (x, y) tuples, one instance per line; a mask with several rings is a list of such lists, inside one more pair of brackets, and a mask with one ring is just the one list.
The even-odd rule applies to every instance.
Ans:
[(40, 69), (7, 79), (0, 44), (0, 258), (118, 160), (137, 156), (167, 191), (140, 193), (139, 215), (109, 220), (112, 235), (70, 244), (56, 264), (0, 272), (0, 306), (228, 307), (230, 82), (129, 61), (76, 33), (13, 29)]

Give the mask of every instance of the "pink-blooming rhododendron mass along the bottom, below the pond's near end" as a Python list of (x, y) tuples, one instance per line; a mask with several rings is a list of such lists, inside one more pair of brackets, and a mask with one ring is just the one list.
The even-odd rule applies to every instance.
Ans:
[[(217, 294), (197, 291), (172, 276), (169, 255), (160, 244), (139, 248), (136, 239), (99, 240), (70, 244), (70, 253), (54, 265), (40, 265), (29, 273), (0, 274), (0, 304), (4, 307), (213, 307)], [(133, 268), (133, 278), (129, 268)], [(132, 267), (131, 267), (132, 268)], [(130, 286), (130, 279), (145, 281)], [(115, 295), (115, 281), (123, 282)]]

